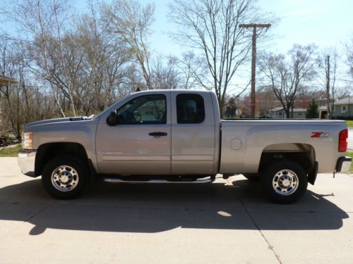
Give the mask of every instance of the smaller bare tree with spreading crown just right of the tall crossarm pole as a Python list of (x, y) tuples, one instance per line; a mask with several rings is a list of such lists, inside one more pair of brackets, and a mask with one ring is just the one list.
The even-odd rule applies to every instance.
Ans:
[(293, 118), (293, 108), (297, 96), (316, 75), (313, 56), (316, 46), (309, 44), (301, 46), (294, 44), (283, 54), (262, 54), (260, 70), (265, 84), (273, 88), (275, 96), (280, 101), (287, 118)]

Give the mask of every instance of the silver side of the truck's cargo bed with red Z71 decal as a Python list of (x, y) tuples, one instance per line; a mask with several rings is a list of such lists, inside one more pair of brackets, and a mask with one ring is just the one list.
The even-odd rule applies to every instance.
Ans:
[(309, 148), (318, 161), (318, 172), (333, 172), (337, 158), (344, 156), (337, 148), (345, 128), (342, 120), (222, 120), (220, 172), (258, 172), (264, 152)]

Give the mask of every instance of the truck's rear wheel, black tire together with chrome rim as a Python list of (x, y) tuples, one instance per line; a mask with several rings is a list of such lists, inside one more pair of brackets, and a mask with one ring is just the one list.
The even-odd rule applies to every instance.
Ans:
[(265, 193), (275, 203), (294, 203), (305, 194), (308, 187), (304, 168), (293, 161), (272, 163), (261, 180)]

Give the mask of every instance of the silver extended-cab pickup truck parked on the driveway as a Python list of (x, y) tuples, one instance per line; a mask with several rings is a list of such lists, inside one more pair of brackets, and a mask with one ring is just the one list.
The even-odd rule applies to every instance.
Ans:
[(292, 203), (318, 172), (349, 169), (347, 136), (345, 121), (221, 120), (213, 92), (150, 90), (90, 118), (25, 125), (18, 163), (57, 199), (95, 177), (205, 183), (220, 173), (261, 180), (270, 199)]

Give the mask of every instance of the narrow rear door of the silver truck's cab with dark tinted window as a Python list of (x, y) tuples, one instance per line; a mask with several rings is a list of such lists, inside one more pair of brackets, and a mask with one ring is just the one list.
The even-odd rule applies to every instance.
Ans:
[(172, 109), (172, 174), (212, 175), (215, 119), (210, 93), (173, 91)]

